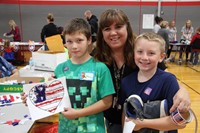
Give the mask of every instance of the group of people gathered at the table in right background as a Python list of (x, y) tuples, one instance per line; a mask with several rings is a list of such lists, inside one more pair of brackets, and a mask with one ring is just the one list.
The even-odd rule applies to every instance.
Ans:
[[(197, 54), (199, 53), (200, 49), (199, 46), (194, 48), (194, 40), (192, 41), (192, 38), (195, 38), (195, 40), (198, 40), (198, 37), (196, 34), (194, 34), (194, 27), (192, 26), (192, 21), (187, 19), (185, 21), (185, 24), (181, 28), (181, 38), (180, 40), (177, 39), (177, 28), (175, 26), (175, 20), (172, 20), (170, 23), (166, 20), (163, 20), (162, 17), (155, 17), (155, 25), (153, 32), (161, 35), (166, 42), (166, 61), (172, 59), (170, 57), (171, 51), (173, 49), (173, 43), (181, 43), (183, 45), (180, 46), (179, 50), (179, 60), (178, 64), (182, 63), (182, 56), (185, 52), (185, 62), (191, 65), (197, 65), (199, 58)], [(198, 27), (196, 28), (196, 33), (198, 34)], [(196, 42), (196, 41), (195, 41)], [(172, 44), (172, 45), (170, 45)], [(195, 44), (196, 45), (196, 44)], [(198, 43), (198, 45), (200, 45)], [(190, 57), (189, 57), (189, 53)], [(195, 56), (194, 56), (194, 53)], [(171, 60), (172, 61), (172, 60)]]

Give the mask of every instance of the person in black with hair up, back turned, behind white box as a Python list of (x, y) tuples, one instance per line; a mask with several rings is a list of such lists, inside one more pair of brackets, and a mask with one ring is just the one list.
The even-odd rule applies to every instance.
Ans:
[[(47, 15), (47, 23), (43, 28), (42, 28), (42, 32), (41, 32), (41, 41), (43, 43), (45, 43), (45, 38), (46, 37), (50, 37), (53, 35), (57, 35), (58, 34), (58, 28), (57, 26), (54, 24), (54, 16), (52, 13), (49, 13)], [(47, 50), (47, 46), (45, 45), (45, 49)]]

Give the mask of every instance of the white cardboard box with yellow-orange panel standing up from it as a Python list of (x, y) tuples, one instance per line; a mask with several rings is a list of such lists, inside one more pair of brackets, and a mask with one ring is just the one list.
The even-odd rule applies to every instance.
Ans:
[(47, 37), (45, 40), (49, 51), (32, 52), (34, 69), (54, 71), (58, 64), (67, 60), (67, 55), (60, 35)]

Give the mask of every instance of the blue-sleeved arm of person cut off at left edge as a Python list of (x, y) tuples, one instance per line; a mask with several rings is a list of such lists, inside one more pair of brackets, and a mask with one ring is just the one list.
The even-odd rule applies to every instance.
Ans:
[(0, 56), (0, 78), (18, 75), (18, 69)]

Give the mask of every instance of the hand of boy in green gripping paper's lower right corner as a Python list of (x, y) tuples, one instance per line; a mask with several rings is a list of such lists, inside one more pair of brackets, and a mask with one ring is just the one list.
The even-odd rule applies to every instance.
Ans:
[(64, 111), (62, 112), (62, 114), (70, 120), (76, 119), (78, 118), (78, 110), (75, 110), (73, 108), (64, 108)]

